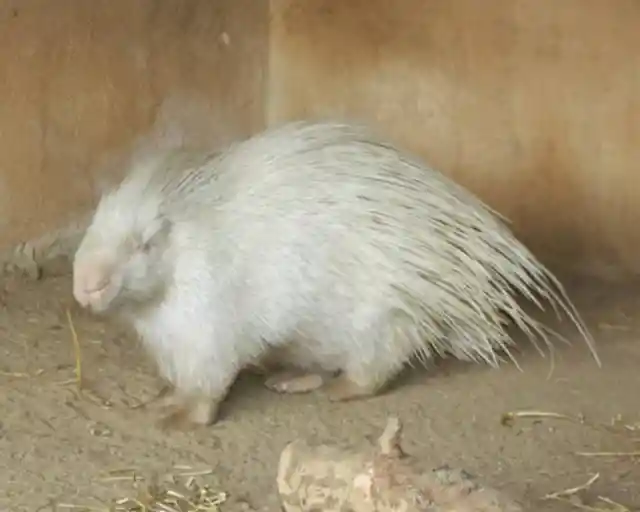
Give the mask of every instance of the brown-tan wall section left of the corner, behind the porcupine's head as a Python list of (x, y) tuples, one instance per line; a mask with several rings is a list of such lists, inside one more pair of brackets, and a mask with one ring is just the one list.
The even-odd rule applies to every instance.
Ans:
[(267, 23), (266, 0), (2, 0), (0, 249), (86, 211), (167, 98), (215, 139), (262, 127)]

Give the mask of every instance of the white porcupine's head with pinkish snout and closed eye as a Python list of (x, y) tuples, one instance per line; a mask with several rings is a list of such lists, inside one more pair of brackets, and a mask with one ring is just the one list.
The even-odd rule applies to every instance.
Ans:
[(164, 291), (170, 223), (148, 186), (125, 180), (105, 193), (76, 251), (73, 295), (94, 313), (144, 306)]

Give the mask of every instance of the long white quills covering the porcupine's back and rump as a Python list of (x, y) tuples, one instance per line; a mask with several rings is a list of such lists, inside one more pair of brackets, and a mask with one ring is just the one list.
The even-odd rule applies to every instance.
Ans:
[[(144, 194), (160, 191), (169, 218), (209, 229), (212, 266), (243, 298), (235, 319), (267, 342), (319, 339), (314, 356), (327, 361), (345, 351), (398, 363), (450, 353), (495, 366), (499, 352), (511, 356), (505, 316), (550, 343), (519, 292), (563, 310), (599, 363), (561, 285), (499, 216), (364, 128), (289, 123), (182, 174), (154, 167)], [(380, 329), (399, 332), (374, 354), (364, 344), (389, 338), (354, 333), (382, 317)]]

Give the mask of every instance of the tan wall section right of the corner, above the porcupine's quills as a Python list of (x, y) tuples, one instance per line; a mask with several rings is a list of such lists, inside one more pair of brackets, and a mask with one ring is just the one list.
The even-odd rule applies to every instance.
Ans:
[(547, 261), (640, 270), (640, 2), (271, 10), (270, 123), (371, 121), (510, 217)]

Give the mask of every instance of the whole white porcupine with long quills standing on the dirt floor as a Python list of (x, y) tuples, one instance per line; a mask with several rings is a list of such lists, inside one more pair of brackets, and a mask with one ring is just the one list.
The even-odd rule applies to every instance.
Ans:
[(599, 363), (561, 285), (493, 211), (331, 121), (134, 161), (74, 260), (77, 301), (128, 318), (174, 384), (169, 417), (202, 424), (272, 349), (339, 371), (326, 387), (344, 400), (379, 392), (416, 357), (497, 365), (512, 343), (505, 318), (548, 343), (517, 292), (563, 309)]

